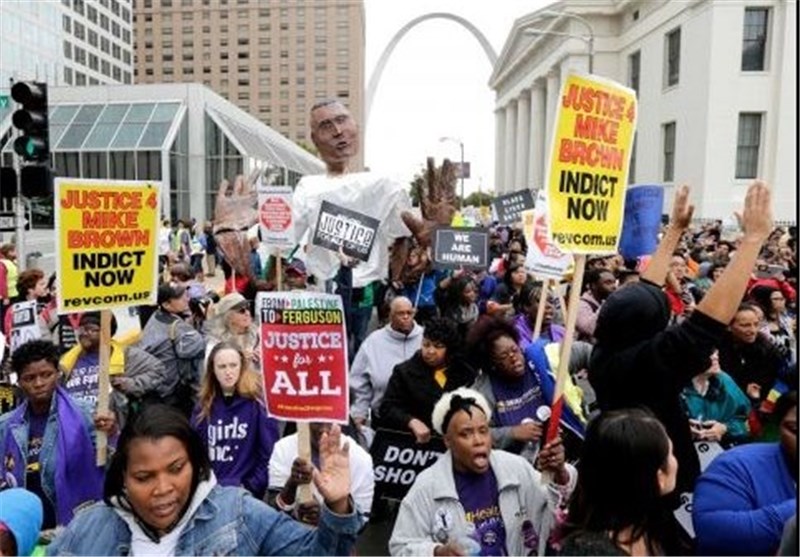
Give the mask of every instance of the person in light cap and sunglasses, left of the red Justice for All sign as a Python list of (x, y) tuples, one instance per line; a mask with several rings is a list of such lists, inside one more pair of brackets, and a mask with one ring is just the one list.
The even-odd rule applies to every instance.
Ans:
[(250, 302), (238, 292), (225, 294), (214, 306), (214, 317), (208, 321), (205, 359), (220, 342), (231, 342), (241, 348), (253, 369), (261, 369), (258, 327), (250, 313)]

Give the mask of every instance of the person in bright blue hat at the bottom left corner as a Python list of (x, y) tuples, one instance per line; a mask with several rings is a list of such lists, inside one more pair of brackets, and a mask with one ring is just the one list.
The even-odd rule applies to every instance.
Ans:
[(0, 555), (30, 555), (42, 527), (42, 501), (14, 487), (0, 491)]

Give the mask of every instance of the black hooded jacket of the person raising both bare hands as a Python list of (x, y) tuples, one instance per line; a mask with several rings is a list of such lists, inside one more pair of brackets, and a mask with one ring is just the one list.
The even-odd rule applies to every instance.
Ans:
[(708, 369), (725, 325), (696, 310), (665, 329), (668, 319), (666, 296), (652, 284), (627, 285), (612, 294), (598, 315), (589, 382), (601, 410), (646, 406), (661, 421), (678, 460), (678, 496), (694, 490), (700, 473), (680, 393)]

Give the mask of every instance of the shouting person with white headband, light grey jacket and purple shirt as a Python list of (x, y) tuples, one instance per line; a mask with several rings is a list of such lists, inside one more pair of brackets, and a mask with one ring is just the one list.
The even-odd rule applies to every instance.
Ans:
[[(400, 504), (392, 555), (466, 555), (468, 544), (478, 549), (475, 542), (482, 555), (544, 554), (577, 472), (564, 462), (558, 438), (540, 451), (538, 469), (493, 450), (491, 414), (483, 395), (466, 387), (436, 403), (433, 427), (447, 451), (417, 476)], [(552, 480), (543, 483), (540, 470)]]

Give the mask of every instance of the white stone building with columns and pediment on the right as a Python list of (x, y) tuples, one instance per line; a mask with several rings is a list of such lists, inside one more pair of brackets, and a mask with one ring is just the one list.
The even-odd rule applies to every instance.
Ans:
[(775, 218), (796, 221), (796, 7), (562, 0), (519, 18), (489, 81), (495, 192), (542, 187), (562, 79), (591, 64), (637, 91), (631, 183), (664, 184), (667, 204), (688, 183), (697, 217), (725, 219), (759, 177), (773, 185)]

